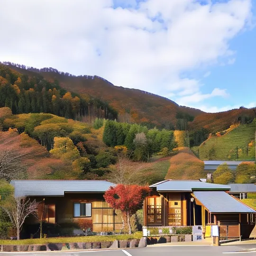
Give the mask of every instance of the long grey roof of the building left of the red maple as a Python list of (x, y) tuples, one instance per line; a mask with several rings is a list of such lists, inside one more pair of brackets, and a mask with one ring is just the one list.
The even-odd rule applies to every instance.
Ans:
[(114, 183), (91, 180), (12, 180), (15, 196), (64, 196), (64, 192), (105, 192)]

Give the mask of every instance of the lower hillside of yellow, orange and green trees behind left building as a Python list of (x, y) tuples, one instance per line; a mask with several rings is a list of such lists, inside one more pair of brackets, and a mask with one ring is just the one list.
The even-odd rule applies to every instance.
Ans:
[(1, 152), (17, 156), (26, 170), (8, 174), (17, 178), (108, 179), (121, 152), (128, 165), (140, 168), (140, 175), (146, 177), (141, 182), (150, 183), (165, 177), (157, 173), (163, 172), (162, 165), (147, 163), (151, 156), (173, 154), (176, 146), (188, 142), (183, 131), (105, 119), (85, 123), (45, 113), (13, 115), (7, 107), (0, 108), (0, 128)]

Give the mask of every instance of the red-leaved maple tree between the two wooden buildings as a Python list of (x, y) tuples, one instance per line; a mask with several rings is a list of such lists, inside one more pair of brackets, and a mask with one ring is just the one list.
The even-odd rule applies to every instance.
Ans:
[(105, 192), (104, 198), (115, 210), (120, 210), (123, 220), (123, 227), (125, 223), (128, 224), (129, 234), (131, 234), (131, 217), (142, 208), (143, 201), (150, 193), (148, 186), (139, 185), (124, 185), (118, 184), (115, 187), (110, 187)]

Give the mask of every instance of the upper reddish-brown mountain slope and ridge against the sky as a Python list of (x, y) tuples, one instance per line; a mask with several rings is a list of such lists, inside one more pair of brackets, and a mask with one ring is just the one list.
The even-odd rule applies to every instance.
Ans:
[[(80, 101), (86, 102), (82, 104), (80, 115), (89, 114), (100, 106), (105, 117), (117, 118), (120, 122), (141, 123), (149, 128), (156, 126), (170, 130), (190, 130), (191, 146), (199, 146), (203, 138), (211, 132), (227, 129), (238, 120), (243, 123), (254, 118), (254, 111), (245, 108), (207, 114), (201, 110), (179, 106), (174, 101), (146, 91), (114, 86), (98, 76), (74, 76), (54, 68), (39, 70), (19, 64), (5, 64), (7, 65), (3, 66), (10, 67), (16, 73), (44, 78), (52, 84), (57, 83), (63, 90), (73, 92), (73, 96), (75, 96), (74, 93), (78, 93), (77, 97)], [(4, 74), (0, 73), (0, 76), (5, 78)], [(90, 108), (88, 108), (88, 102)], [(51, 113), (56, 114), (56, 112)], [(101, 117), (102, 115), (101, 113)], [(64, 113), (61, 116), (65, 116)], [(95, 116), (99, 117), (99, 113)]]

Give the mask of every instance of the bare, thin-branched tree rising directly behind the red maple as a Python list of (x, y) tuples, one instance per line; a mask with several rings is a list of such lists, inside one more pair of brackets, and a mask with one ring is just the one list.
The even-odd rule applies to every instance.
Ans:
[(126, 155), (119, 154), (117, 164), (110, 166), (108, 179), (116, 184), (144, 184), (144, 171), (148, 166), (147, 163), (133, 162)]

